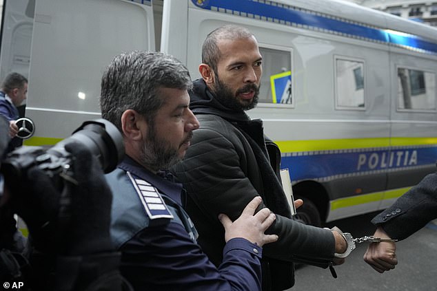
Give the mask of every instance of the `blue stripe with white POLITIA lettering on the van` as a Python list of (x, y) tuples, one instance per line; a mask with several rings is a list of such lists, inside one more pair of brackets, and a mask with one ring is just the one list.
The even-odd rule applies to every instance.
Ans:
[(414, 169), (435, 164), (437, 147), (361, 149), (283, 154), (281, 168), (299, 180), (321, 180), (338, 175), (363, 175), (372, 171)]

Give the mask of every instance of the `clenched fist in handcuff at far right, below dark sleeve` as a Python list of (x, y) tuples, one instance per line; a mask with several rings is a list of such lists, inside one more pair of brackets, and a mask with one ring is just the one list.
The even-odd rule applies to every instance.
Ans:
[[(382, 239), (391, 238), (380, 226), (376, 228), (374, 237), (380, 237)], [(392, 270), (398, 264), (398, 259), (396, 258), (396, 244), (392, 241), (370, 243), (363, 259), (377, 272), (383, 273)]]

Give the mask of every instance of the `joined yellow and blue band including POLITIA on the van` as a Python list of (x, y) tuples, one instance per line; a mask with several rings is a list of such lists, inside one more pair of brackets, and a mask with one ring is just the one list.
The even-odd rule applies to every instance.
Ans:
[(437, 138), (357, 138), (276, 142), (282, 152), (281, 168), (288, 168), (294, 183), (327, 182), (345, 177), (384, 174), (433, 167)]

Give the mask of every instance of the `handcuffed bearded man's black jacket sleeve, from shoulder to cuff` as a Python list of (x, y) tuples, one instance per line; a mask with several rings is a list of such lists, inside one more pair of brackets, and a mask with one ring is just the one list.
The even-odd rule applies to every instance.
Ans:
[[(200, 138), (201, 133), (211, 136)], [(210, 142), (205, 141), (207, 138)], [(197, 139), (199, 140), (196, 140), (195, 135), (194, 145), (187, 151), (187, 158), (179, 164), (176, 172), (195, 206), (205, 215), (205, 218), (199, 215), (200, 221), (194, 222), (199, 233), (205, 235), (214, 227), (210, 225), (206, 228), (203, 226), (205, 221), (216, 220), (219, 213), (234, 220), (241, 215), (248, 202), (257, 195), (263, 195), (256, 191), (243, 171), (246, 168), (241, 164), (240, 155), (230, 142), (210, 131), (199, 131)], [(279, 237), (277, 242), (266, 245), (264, 250), (265, 256), (274, 259), (293, 261), (297, 257), (305, 257), (332, 261), (336, 251), (331, 231), (305, 226), (281, 215), (276, 215), (276, 222), (266, 233)]]

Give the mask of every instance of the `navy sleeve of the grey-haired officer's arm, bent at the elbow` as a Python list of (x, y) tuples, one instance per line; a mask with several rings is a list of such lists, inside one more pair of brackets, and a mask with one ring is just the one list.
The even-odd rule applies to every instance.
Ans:
[(220, 269), (176, 223), (145, 228), (121, 252), (122, 274), (134, 290), (259, 290), (261, 248), (245, 239), (228, 242)]

